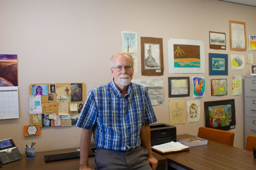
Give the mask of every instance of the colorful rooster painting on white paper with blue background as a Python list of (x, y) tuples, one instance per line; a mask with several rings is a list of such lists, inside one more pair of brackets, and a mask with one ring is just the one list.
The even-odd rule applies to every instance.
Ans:
[(204, 97), (205, 96), (205, 78), (202, 77), (192, 77), (193, 83), (193, 98)]

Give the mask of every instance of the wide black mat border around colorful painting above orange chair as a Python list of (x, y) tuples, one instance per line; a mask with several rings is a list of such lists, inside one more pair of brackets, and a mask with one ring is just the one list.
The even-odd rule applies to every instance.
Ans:
[(231, 104), (231, 109), (232, 109), (232, 120), (231, 120), (232, 124), (228, 125), (228, 126), (216, 127), (213, 129), (220, 129), (220, 130), (234, 129), (236, 126), (235, 99), (219, 100), (219, 101), (205, 101), (204, 102), (205, 127), (210, 128), (210, 115), (209, 115), (209, 108), (208, 108), (209, 106), (220, 106), (220, 105), (229, 105), (229, 104)]

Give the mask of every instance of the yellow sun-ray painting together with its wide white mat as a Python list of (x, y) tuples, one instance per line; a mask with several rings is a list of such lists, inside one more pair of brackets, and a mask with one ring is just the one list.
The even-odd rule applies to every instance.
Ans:
[(169, 73), (205, 73), (204, 42), (168, 39)]

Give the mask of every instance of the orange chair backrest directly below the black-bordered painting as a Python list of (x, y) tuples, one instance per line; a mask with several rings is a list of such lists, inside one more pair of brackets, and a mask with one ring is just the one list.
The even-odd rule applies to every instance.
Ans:
[(233, 146), (235, 133), (230, 131), (200, 127), (198, 129), (197, 136), (203, 139), (208, 139)]

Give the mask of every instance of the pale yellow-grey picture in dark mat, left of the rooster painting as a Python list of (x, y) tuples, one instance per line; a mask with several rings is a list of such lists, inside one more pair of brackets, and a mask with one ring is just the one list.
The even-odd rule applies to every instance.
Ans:
[(190, 95), (189, 77), (168, 77), (169, 97)]

